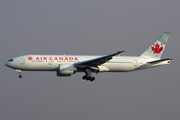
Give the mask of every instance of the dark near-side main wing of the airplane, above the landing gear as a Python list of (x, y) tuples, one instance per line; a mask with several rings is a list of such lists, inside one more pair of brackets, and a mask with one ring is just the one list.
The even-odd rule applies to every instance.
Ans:
[(74, 65), (79, 68), (85, 68), (85, 67), (97, 67), (98, 65), (104, 64), (105, 62), (112, 59), (113, 56), (118, 55), (124, 51), (118, 51), (117, 53), (105, 55), (102, 57), (98, 57), (95, 59), (90, 59), (82, 62), (75, 63)]

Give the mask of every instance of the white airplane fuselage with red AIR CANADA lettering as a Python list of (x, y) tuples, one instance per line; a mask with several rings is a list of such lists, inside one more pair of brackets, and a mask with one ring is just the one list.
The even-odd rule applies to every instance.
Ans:
[[(6, 62), (6, 65), (17, 70), (25, 71), (58, 71), (59, 64), (73, 65), (78, 62), (98, 58), (101, 56), (87, 55), (24, 55), (12, 58), (13, 62)], [(133, 57), (133, 56), (115, 56), (110, 61), (98, 66), (99, 72), (128, 72), (140, 70), (160, 65), (169, 64), (169, 61), (163, 61), (158, 64), (149, 64), (147, 62), (157, 59)], [(84, 72), (80, 69), (77, 72)]]

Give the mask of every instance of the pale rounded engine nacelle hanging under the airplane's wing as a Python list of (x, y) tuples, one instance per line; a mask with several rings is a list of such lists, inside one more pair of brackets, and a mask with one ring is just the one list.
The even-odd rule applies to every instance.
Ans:
[(74, 65), (69, 64), (59, 64), (59, 70), (57, 71), (57, 76), (71, 76), (77, 71)]

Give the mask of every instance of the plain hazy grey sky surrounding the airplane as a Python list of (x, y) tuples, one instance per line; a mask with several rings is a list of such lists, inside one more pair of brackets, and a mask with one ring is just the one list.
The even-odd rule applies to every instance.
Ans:
[[(179, 120), (179, 0), (1, 0), (1, 120)], [(171, 32), (170, 65), (127, 73), (23, 71), (4, 64), (26, 54), (141, 55)]]

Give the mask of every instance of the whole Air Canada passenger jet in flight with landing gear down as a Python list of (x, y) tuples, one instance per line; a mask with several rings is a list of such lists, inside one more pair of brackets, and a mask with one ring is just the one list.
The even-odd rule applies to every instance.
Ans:
[(98, 55), (23, 55), (11, 58), (5, 65), (15, 69), (22, 78), (21, 71), (56, 71), (57, 76), (66, 77), (76, 72), (85, 72), (83, 80), (94, 81), (91, 73), (129, 72), (170, 64), (172, 58), (161, 59), (170, 32), (164, 32), (140, 56)]

